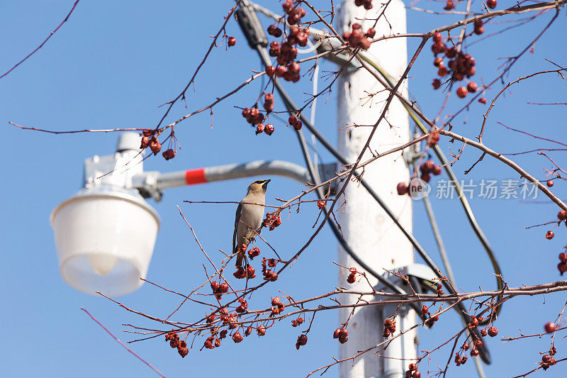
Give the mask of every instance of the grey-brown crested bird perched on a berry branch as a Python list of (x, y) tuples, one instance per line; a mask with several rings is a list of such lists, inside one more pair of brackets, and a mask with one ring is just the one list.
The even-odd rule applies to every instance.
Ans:
[(260, 233), (266, 204), (266, 188), (270, 180), (258, 180), (248, 187), (246, 196), (236, 209), (235, 232), (232, 235), (232, 253), (239, 252), (236, 267), (242, 266), (246, 251), (239, 251), (242, 244), (248, 245)]

